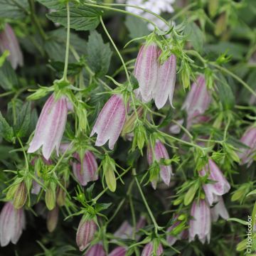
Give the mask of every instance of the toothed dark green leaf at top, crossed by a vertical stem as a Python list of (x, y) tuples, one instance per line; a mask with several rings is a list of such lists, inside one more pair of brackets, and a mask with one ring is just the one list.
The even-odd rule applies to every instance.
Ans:
[[(92, 7), (80, 6), (70, 8), (70, 28), (77, 31), (88, 31), (97, 28), (101, 12)], [(55, 23), (67, 26), (67, 10), (54, 11), (46, 16)]]

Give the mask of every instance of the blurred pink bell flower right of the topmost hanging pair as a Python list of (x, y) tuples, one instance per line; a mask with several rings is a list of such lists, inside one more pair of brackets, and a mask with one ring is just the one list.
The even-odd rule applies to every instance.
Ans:
[(206, 80), (200, 75), (196, 82), (191, 85), (182, 109), (188, 114), (188, 123), (191, 125), (192, 120), (206, 112), (210, 105), (211, 95), (206, 87)]

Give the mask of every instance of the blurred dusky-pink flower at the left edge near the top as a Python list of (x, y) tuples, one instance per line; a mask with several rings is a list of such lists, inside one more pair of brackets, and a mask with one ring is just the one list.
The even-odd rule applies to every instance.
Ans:
[(18, 40), (15, 33), (9, 24), (6, 24), (4, 31), (0, 33), (0, 50), (4, 53), (4, 50), (9, 50), (8, 60), (11, 66), (16, 69), (23, 65), (23, 55), (21, 48), (18, 44)]

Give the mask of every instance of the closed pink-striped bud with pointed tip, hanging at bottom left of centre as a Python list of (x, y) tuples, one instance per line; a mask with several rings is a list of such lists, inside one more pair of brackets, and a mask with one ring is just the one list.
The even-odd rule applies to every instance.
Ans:
[(80, 251), (85, 250), (90, 244), (94, 238), (96, 230), (97, 225), (94, 220), (88, 220), (84, 217), (80, 220), (78, 231), (76, 233), (76, 242)]

